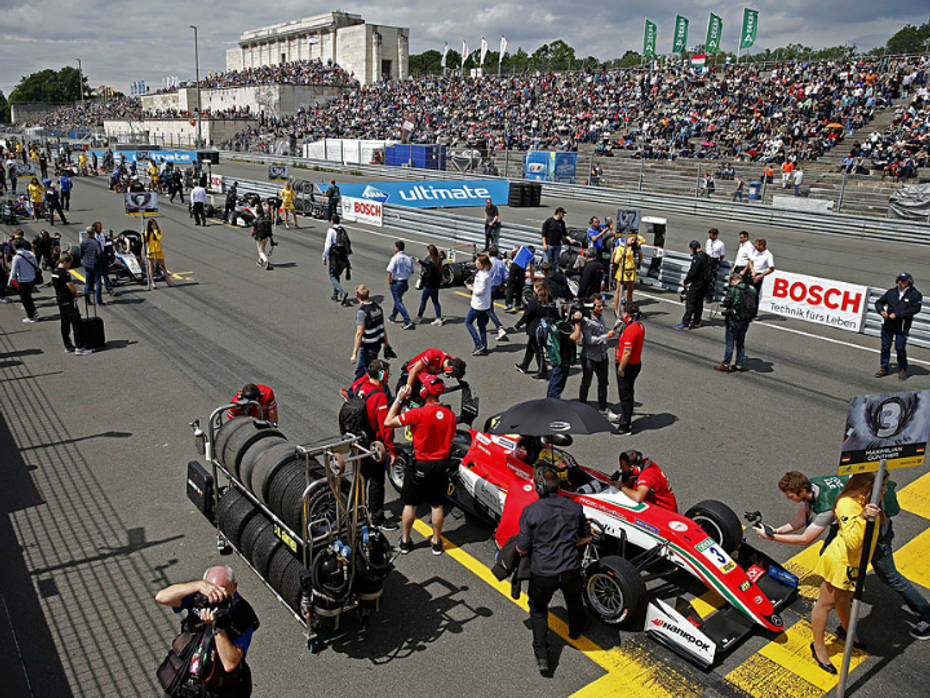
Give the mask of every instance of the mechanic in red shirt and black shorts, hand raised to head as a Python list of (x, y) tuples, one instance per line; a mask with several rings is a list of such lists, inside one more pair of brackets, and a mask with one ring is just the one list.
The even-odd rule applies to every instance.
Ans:
[(410, 386), (397, 393), (384, 424), (387, 427), (410, 427), (413, 438), (413, 463), (404, 472), (404, 486), (400, 493), (404, 503), (401, 519), (400, 552), (406, 555), (413, 550), (410, 530), (417, 515), (417, 507), (425, 499), (431, 509), (433, 524), (433, 555), (442, 555), (442, 523), (445, 516), (443, 503), (449, 488), (449, 453), (455, 437), (455, 413), (439, 403), (446, 386), (439, 376), (424, 374), (420, 381), (422, 407), (400, 413), (401, 405), (410, 395)]

